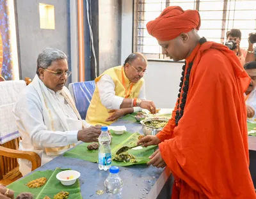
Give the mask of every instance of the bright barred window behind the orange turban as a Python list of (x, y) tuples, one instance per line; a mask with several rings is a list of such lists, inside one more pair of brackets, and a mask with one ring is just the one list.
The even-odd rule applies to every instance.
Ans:
[(198, 10), (201, 17), (198, 34), (208, 41), (224, 43), (227, 31), (240, 29), (240, 46), (248, 48), (248, 34), (256, 33), (256, 0), (134, 0), (134, 52), (141, 52), (148, 59), (166, 59), (156, 39), (147, 33), (146, 24), (167, 6)]

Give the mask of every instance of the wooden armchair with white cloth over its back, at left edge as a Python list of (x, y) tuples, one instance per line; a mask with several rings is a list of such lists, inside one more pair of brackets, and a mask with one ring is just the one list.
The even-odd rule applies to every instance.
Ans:
[(22, 80), (0, 82), (0, 184), (4, 185), (22, 177), (17, 158), (31, 161), (32, 170), (41, 166), (40, 156), (36, 152), (17, 150), (21, 138), (12, 108), (24, 87), (26, 84)]

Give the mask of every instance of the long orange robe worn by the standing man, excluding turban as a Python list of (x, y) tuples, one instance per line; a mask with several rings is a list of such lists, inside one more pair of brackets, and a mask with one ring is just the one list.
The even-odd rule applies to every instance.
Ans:
[(256, 198), (243, 96), (250, 78), (232, 50), (218, 43), (197, 45), (186, 68), (191, 61), (184, 115), (175, 126), (176, 103), (172, 119), (157, 134), (175, 177), (172, 198)]

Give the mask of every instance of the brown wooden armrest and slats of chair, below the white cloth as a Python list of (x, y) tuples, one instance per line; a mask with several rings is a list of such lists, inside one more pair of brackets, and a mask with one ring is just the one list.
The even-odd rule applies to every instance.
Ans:
[(22, 177), (19, 172), (17, 158), (28, 159), (32, 163), (32, 171), (41, 166), (41, 159), (36, 152), (19, 151), (20, 138), (0, 145), (0, 184), (7, 186)]

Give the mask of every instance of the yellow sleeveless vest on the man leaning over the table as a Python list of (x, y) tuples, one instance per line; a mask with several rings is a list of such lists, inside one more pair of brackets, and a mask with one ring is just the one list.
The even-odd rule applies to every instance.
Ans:
[[(116, 96), (120, 96), (122, 98), (125, 98), (125, 87), (127, 91), (130, 91), (131, 85), (131, 93), (127, 98), (138, 98), (141, 90), (141, 86), (143, 85), (143, 78), (141, 78), (136, 84), (132, 84), (129, 79), (126, 77), (124, 70), (122, 69), (123, 66), (116, 66), (114, 68), (109, 68), (106, 70), (102, 75), (109, 75), (114, 84), (115, 84), (115, 94)], [(122, 73), (124, 74), (124, 80), (125, 80), (125, 87), (122, 84)], [(100, 124), (100, 125), (109, 125), (113, 122), (106, 122), (106, 119), (111, 115), (109, 114), (109, 109), (104, 107), (100, 101), (99, 96), (99, 89), (97, 87), (97, 82), (99, 82), (100, 78), (95, 78), (96, 88), (92, 96), (92, 100), (90, 103), (90, 106), (88, 108), (87, 114), (86, 114), (86, 122), (92, 125)]]

